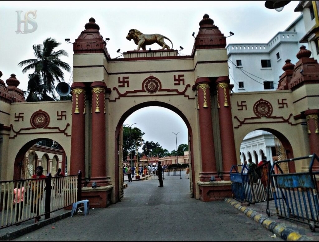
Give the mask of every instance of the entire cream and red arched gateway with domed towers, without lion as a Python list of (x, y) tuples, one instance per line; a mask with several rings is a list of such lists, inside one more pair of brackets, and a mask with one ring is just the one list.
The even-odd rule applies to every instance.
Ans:
[[(41, 103), (41, 110), (34, 103), (0, 106), (5, 115), (0, 117), (1, 162), (8, 161), (8, 170), (1, 170), (2, 179), (19, 172), (22, 152), (11, 154), (8, 148), (22, 150), (31, 136), (44, 136), (57, 140), (68, 157), (70, 154), (70, 175), (82, 171), (82, 197), (89, 199), (91, 206), (115, 203), (123, 195), (123, 122), (148, 106), (170, 109), (185, 122), (190, 190), (194, 198), (203, 201), (231, 197), (229, 172), (232, 165), (240, 163), (240, 143), (249, 131), (271, 129), (288, 158), (319, 153), (319, 98), (315, 91), (319, 80), (314, 77), (319, 65), (304, 49), (293, 69), (283, 68), (282, 90), (230, 94), (226, 37), (207, 14), (199, 22), (190, 56), (161, 49), (127, 51), (122, 59), (114, 59), (99, 29), (91, 18), (73, 43), (72, 102)], [(307, 69), (309, 63), (312, 68)], [(308, 131), (302, 122), (307, 122)], [(92, 187), (93, 183), (97, 186)]]

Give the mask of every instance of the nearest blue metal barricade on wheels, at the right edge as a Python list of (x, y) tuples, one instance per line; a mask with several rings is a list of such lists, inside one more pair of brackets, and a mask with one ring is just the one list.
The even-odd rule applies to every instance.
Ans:
[[(280, 168), (283, 162), (302, 162), (310, 160), (309, 171), (284, 174)], [(272, 194), (275, 200), (276, 212), (279, 218), (286, 218), (309, 224), (311, 231), (319, 228), (318, 176), (319, 171), (313, 171), (314, 162), (319, 162), (316, 154), (276, 161), (271, 167)], [(305, 163), (305, 161), (304, 161)], [(301, 164), (304, 164), (301, 163)], [(275, 174), (274, 168), (278, 168)], [(269, 216), (269, 203), (267, 202)]]

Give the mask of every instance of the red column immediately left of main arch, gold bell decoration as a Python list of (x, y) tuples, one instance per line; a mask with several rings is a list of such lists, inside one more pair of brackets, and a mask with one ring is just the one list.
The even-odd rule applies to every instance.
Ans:
[(106, 185), (106, 137), (105, 137), (105, 91), (103, 81), (95, 81), (92, 89), (92, 156), (91, 181)]

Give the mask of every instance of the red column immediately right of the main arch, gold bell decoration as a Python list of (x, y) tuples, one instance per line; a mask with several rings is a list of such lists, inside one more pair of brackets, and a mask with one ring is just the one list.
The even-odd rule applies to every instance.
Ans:
[(200, 148), (202, 156), (202, 172), (199, 173), (200, 181), (210, 181), (211, 176), (217, 177), (215, 146), (211, 119), (210, 79), (197, 78), (197, 110), (199, 118)]

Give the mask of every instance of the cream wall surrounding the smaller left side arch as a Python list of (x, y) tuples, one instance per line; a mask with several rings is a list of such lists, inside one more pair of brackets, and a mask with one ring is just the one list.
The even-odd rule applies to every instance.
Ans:
[[(16, 155), (19, 150), (30, 140), (35, 140), (38, 138), (48, 138), (57, 141), (65, 150), (68, 161), (70, 161), (70, 147), (71, 147), (71, 137), (66, 136), (66, 134), (71, 134), (71, 101), (60, 101), (60, 102), (23, 102), (23, 103), (12, 103), (11, 104), (11, 115), (9, 120), (9, 125), (11, 124), (13, 130), (20, 132), (16, 134), (13, 130), (9, 132), (11, 139), (8, 139), (7, 144), (8, 147), (14, 147), (10, 149), (7, 155), (7, 169), (5, 171), (1, 171), (1, 179), (11, 180), (13, 178), (13, 168), (14, 161)], [(32, 128), (30, 123), (30, 118), (34, 112), (42, 110), (48, 113), (50, 117), (50, 121), (48, 127), (53, 129), (45, 129), (45, 128), (36, 128), (23, 130), (26, 128)], [(66, 111), (66, 119), (57, 120), (57, 111), (59, 114), (61, 111)], [(23, 121), (20, 119), (19, 122), (14, 121), (15, 114), (24, 113)], [(67, 127), (67, 124), (69, 126)], [(67, 128), (66, 128), (67, 127)], [(65, 130), (66, 134), (59, 132), (60, 130)], [(43, 133), (40, 133), (43, 132)], [(53, 133), (59, 132), (59, 133)], [(17, 136), (15, 136), (17, 135)], [(14, 138), (13, 138), (14, 137)], [(3, 155), (1, 155), (3, 157)], [(2, 164), (4, 165), (5, 162)], [(70, 167), (70, 163), (68, 163), (68, 170)]]

